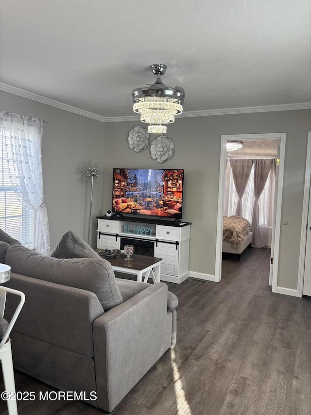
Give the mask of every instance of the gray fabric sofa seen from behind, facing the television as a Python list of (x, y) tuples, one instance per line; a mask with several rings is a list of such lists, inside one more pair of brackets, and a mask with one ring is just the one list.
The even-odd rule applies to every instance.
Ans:
[[(13, 271), (6, 286), (26, 296), (11, 335), (15, 368), (113, 411), (174, 346), (177, 298), (163, 283), (115, 278), (98, 256), (57, 259), (29, 251), (13, 244), (5, 253)], [(8, 320), (14, 303), (7, 301)], [(96, 400), (89, 400), (92, 391)]]

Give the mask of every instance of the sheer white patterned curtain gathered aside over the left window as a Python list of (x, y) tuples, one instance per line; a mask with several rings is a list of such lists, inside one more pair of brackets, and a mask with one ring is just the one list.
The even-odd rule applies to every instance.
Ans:
[(50, 252), (48, 213), (43, 202), (41, 144), (43, 121), (0, 111), (5, 134), (5, 154), (17, 197), (35, 211), (35, 250)]

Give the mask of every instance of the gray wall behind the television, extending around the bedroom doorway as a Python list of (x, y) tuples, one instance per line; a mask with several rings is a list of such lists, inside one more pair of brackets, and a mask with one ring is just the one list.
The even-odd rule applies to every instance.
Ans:
[(127, 146), (128, 132), (137, 125), (140, 125), (138, 121), (105, 124), (104, 162), (111, 174), (104, 189), (104, 211), (111, 207), (113, 167), (184, 168), (183, 219), (192, 222), (190, 271), (212, 275), (215, 273), (221, 135), (287, 133), (282, 223), (287, 221), (288, 225), (281, 227), (277, 285), (297, 289), (304, 172), (307, 137), (311, 130), (311, 110), (176, 119), (174, 124), (168, 126), (167, 132), (167, 136), (175, 144), (173, 158), (163, 164), (150, 157), (149, 147), (135, 153)]

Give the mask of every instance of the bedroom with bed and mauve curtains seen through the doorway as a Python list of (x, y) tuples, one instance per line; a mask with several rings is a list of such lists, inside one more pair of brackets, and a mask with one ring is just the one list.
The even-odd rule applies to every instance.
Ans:
[(271, 249), (279, 139), (241, 145), (226, 149), (222, 252), (233, 263), (249, 262), (254, 249)]

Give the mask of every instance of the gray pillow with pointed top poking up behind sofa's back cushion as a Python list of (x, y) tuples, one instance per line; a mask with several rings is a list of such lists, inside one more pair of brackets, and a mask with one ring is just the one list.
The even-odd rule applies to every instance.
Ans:
[(68, 231), (55, 246), (50, 256), (54, 258), (100, 258), (100, 256), (77, 234)]

